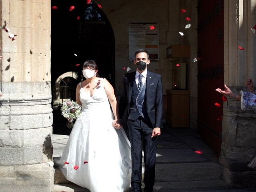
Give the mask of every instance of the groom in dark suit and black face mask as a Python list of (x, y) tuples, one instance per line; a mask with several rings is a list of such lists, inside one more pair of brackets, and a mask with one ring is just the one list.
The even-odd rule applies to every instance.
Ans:
[(132, 151), (132, 191), (141, 192), (142, 149), (144, 151), (144, 192), (152, 192), (155, 182), (156, 137), (162, 128), (163, 90), (159, 74), (147, 70), (149, 54), (135, 52), (136, 72), (124, 74), (120, 98), (120, 118), (127, 110), (127, 126)]

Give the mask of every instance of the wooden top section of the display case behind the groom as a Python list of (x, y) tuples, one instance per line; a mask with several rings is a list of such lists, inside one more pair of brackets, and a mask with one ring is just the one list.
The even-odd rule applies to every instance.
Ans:
[(171, 45), (166, 48), (166, 58), (190, 57), (189, 45)]

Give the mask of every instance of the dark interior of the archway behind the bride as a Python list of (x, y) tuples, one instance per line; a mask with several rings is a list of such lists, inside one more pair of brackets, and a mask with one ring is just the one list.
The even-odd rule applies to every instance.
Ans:
[[(76, 84), (83, 80), (82, 64), (94, 60), (100, 77), (106, 78), (115, 87), (115, 40), (112, 27), (104, 12), (86, 0), (52, 0), (51, 33), (51, 79), (52, 88), (56, 79), (65, 72), (73, 71), (78, 79), (69, 84), (71, 100), (75, 100)], [(70, 11), (70, 6), (74, 9)], [(78, 19), (79, 17), (79, 19)], [(53, 92), (53, 91), (52, 91)], [(60, 110), (53, 112), (54, 134), (69, 134)], [(66, 130), (66, 131), (65, 131)]]

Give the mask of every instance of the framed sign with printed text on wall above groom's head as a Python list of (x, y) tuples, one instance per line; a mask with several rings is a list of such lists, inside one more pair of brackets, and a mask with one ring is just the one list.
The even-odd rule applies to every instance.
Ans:
[(145, 49), (151, 61), (159, 57), (159, 24), (130, 23), (129, 24), (129, 61), (134, 60), (134, 53)]

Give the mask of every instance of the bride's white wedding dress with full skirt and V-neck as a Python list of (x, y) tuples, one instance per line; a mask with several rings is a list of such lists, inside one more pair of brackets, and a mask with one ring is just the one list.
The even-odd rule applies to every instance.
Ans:
[(70, 133), (60, 170), (68, 180), (90, 192), (123, 192), (131, 180), (130, 142), (123, 128), (112, 126), (104, 87), (99, 86), (93, 96), (81, 88), (80, 101), (82, 115)]

